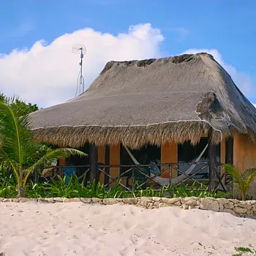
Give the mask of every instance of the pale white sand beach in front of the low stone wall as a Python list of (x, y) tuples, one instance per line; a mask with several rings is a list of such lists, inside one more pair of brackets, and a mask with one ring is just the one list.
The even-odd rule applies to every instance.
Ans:
[(0, 203), (0, 211), (7, 256), (205, 256), (256, 248), (256, 219), (227, 213), (83, 203)]

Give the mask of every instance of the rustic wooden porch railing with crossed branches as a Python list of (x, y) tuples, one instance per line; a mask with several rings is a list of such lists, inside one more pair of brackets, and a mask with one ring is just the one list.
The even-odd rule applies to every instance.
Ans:
[[(143, 189), (148, 185), (153, 187), (162, 187), (164, 184), (172, 187), (173, 185), (178, 186), (181, 183), (191, 183), (195, 182), (200, 184), (200, 186), (208, 186), (208, 175), (205, 178), (198, 178), (203, 170), (208, 169), (208, 162), (191, 162), (186, 163), (187, 165), (200, 165), (200, 167), (195, 168), (196, 170), (191, 173), (187, 173), (181, 170), (179, 167), (182, 163), (167, 163), (159, 165), (102, 165), (97, 166), (97, 173), (94, 173), (96, 181), (101, 181), (106, 188), (113, 186), (117, 182), (124, 189), (130, 190), (136, 185), (136, 189)], [(219, 164), (220, 165), (220, 164)], [(34, 179), (35, 181), (50, 181), (51, 178), (56, 178), (57, 176), (70, 176), (67, 168), (75, 168), (74, 170), (83, 169), (83, 173), (75, 173), (78, 176), (78, 180), (83, 179), (87, 184), (91, 182), (91, 167), (90, 165), (75, 165), (75, 166), (56, 166), (50, 168), (44, 168), (41, 170), (35, 170)], [(158, 167), (159, 173), (151, 173), (151, 168)], [(118, 169), (118, 175), (113, 175), (113, 168)], [(220, 172), (219, 167), (219, 187), (225, 190), (224, 178), (225, 176)], [(175, 174), (178, 176), (175, 177)], [(206, 172), (208, 173), (208, 171)], [(168, 178), (162, 178), (163, 174)], [(86, 177), (84, 177), (86, 176)], [(180, 177), (180, 178), (178, 178)], [(182, 177), (182, 178), (181, 178)]]

